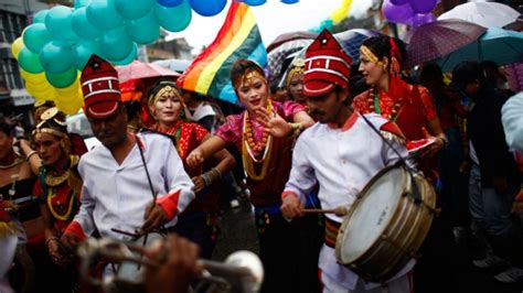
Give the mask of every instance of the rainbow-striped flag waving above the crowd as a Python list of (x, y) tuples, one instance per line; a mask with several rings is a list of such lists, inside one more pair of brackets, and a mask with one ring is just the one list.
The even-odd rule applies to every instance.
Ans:
[(185, 90), (235, 104), (237, 98), (230, 72), (241, 58), (255, 61), (265, 67), (267, 51), (249, 6), (233, 1), (216, 39), (178, 78), (178, 85)]

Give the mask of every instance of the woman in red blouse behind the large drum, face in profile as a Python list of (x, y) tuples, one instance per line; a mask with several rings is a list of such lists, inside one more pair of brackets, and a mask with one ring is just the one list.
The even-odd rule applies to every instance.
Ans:
[(360, 72), (371, 89), (354, 98), (354, 110), (380, 113), (395, 122), (408, 141), (435, 137), (436, 143), (423, 156), (436, 154), (447, 139), (430, 93), (399, 77), (405, 58), (404, 43), (386, 35), (374, 36), (363, 42), (360, 54)]

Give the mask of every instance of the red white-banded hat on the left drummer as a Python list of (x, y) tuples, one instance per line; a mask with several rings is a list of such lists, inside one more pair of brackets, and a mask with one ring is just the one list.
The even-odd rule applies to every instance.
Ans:
[(113, 65), (92, 55), (79, 80), (87, 117), (104, 119), (116, 112), (120, 101), (120, 83)]

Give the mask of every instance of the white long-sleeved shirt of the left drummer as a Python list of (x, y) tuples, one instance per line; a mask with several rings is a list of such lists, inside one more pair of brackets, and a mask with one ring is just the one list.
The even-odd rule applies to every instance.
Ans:
[[(158, 197), (180, 192), (178, 213), (181, 213), (194, 199), (194, 185), (183, 170), (172, 141), (157, 133), (140, 133), (138, 138)], [(129, 237), (114, 232), (111, 228), (129, 232), (141, 228), (152, 194), (138, 143), (121, 165), (109, 149), (98, 145), (82, 156), (78, 172), (84, 186), (79, 213), (74, 220), (87, 236), (96, 228), (102, 237), (127, 240)], [(173, 225), (174, 219), (166, 226)]]

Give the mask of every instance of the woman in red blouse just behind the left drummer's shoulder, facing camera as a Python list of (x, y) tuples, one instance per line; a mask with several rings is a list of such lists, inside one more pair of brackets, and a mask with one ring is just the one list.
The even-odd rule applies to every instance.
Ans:
[(185, 163), (188, 154), (211, 134), (196, 123), (186, 121), (186, 108), (182, 96), (172, 82), (159, 82), (149, 93), (149, 112), (156, 123), (152, 129), (170, 135), (175, 142), (185, 172), (194, 183), (196, 198), (178, 218), (174, 231), (200, 245), (203, 258), (211, 258), (215, 242), (218, 213), (218, 182), (222, 174), (235, 164), (226, 151), (214, 153), (210, 164), (191, 167)]

